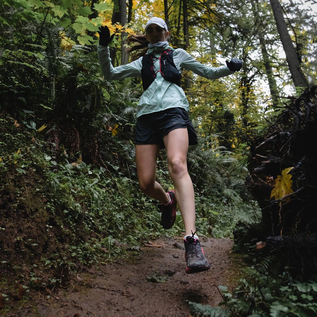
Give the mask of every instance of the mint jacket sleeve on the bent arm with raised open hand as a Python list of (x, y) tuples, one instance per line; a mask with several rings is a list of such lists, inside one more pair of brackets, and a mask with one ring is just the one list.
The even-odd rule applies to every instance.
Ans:
[(102, 74), (106, 80), (120, 80), (127, 77), (141, 77), (142, 59), (139, 58), (126, 65), (113, 67), (109, 48), (106, 46), (97, 46), (98, 58)]

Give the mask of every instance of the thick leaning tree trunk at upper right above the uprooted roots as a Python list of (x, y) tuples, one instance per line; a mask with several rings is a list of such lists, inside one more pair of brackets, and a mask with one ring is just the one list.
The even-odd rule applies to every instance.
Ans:
[(283, 49), (286, 55), (288, 68), (291, 72), (292, 80), (295, 87), (307, 87), (308, 82), (305, 78), (300, 62), (298, 61), (296, 51), (294, 49), (292, 39), (288, 33), (287, 25), (284, 20), (283, 11), (279, 0), (270, 0), (271, 7), (273, 10), (274, 18), (280, 39), (283, 45)]

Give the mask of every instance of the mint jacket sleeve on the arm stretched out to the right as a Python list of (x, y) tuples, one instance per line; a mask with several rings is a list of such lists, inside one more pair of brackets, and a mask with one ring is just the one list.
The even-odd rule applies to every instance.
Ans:
[[(195, 60), (190, 54), (184, 49), (176, 49), (176, 56), (180, 60), (180, 67), (191, 70), (193, 73), (203, 76), (207, 79), (218, 79), (233, 74), (227, 66), (211, 67), (206, 66), (199, 61)], [(174, 53), (175, 54), (175, 53)]]

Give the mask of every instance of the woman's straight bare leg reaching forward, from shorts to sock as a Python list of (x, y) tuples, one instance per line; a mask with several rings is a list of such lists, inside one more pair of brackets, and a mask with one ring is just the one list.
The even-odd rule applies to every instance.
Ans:
[(196, 231), (195, 194), (191, 178), (187, 171), (188, 132), (187, 128), (172, 130), (165, 135), (167, 163), (174, 183), (175, 196), (183, 217), (185, 235)]

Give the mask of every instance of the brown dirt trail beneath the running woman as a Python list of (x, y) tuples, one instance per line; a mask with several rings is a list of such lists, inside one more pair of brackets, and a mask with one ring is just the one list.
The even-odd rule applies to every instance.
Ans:
[(154, 243), (164, 247), (142, 246), (128, 259), (83, 272), (68, 289), (37, 299), (29, 314), (22, 308), (18, 315), (178, 317), (191, 316), (187, 301), (217, 306), (222, 298), (216, 285), (229, 283), (232, 242), (201, 238), (211, 268), (196, 274), (185, 274), (184, 250), (174, 246), (183, 245), (181, 239)]

